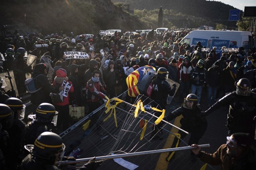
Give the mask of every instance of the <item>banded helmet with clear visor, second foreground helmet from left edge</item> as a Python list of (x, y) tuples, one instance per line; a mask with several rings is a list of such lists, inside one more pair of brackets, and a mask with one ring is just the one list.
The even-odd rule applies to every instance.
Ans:
[(10, 109), (14, 112), (14, 117), (19, 119), (24, 119), (25, 108), (26, 106), (22, 103), (22, 101), (16, 97), (11, 97), (5, 100), (4, 104), (8, 105)]

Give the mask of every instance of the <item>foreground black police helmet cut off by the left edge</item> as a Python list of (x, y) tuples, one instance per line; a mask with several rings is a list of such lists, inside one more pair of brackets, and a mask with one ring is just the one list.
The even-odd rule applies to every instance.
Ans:
[(8, 105), (0, 104), (0, 124), (3, 129), (9, 129), (13, 123), (13, 112)]

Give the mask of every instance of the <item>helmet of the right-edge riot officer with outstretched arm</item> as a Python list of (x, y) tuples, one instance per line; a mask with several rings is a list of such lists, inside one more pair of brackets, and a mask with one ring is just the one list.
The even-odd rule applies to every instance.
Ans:
[(251, 82), (247, 78), (241, 78), (235, 82), (237, 95), (249, 96), (251, 94)]

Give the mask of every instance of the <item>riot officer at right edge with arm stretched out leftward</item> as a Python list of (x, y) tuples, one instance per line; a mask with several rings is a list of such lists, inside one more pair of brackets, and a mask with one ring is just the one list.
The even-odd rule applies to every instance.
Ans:
[(228, 135), (233, 133), (249, 133), (255, 135), (256, 93), (250, 90), (251, 83), (247, 78), (235, 82), (236, 91), (230, 92), (218, 100), (208, 110), (202, 112), (208, 115), (223, 105), (229, 105), (227, 116)]

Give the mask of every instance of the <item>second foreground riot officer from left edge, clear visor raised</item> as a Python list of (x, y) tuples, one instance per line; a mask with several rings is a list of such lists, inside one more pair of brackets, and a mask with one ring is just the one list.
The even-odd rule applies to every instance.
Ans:
[(28, 126), (21, 120), (24, 118), (25, 105), (20, 99), (11, 97), (5, 100), (4, 104), (10, 107), (14, 112), (13, 125), (7, 129), (10, 136), (10, 145), (14, 151), (13, 164), (19, 165), (21, 163), (22, 151), (24, 145), (24, 138), (28, 132)]

